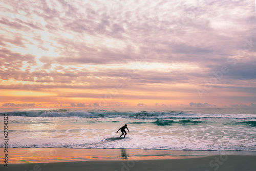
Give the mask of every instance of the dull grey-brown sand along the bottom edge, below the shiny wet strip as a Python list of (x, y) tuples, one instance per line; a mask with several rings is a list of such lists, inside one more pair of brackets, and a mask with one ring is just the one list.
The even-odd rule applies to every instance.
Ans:
[(206, 156), (197, 158), (164, 159), (164, 160), (102, 160), (102, 161), (76, 161), (55, 163), (28, 163), (9, 164), (8, 167), (0, 165), (1, 170), (105, 170), (105, 171), (129, 171), (129, 170), (190, 170), (190, 171), (242, 171), (254, 170), (256, 156)]

